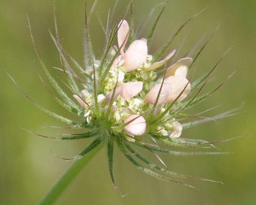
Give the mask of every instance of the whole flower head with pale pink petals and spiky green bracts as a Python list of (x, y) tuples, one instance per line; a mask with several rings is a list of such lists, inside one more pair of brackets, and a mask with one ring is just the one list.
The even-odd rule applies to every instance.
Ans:
[[(149, 162), (133, 146), (137, 145), (151, 152), (168, 152), (171, 154), (173, 153), (171, 150), (160, 148), (158, 142), (178, 147), (214, 147), (212, 145), (213, 143), (180, 138), (182, 130), (189, 127), (189, 123), (182, 124), (182, 120), (191, 117), (185, 114), (184, 111), (212, 94), (211, 92), (199, 96), (207, 78), (214, 69), (193, 84), (190, 83), (190, 79), (187, 77), (188, 70), (203, 49), (199, 51), (194, 60), (186, 56), (180, 58), (180, 60), (173, 64), (169, 63), (168, 60), (173, 57), (176, 51), (175, 49), (166, 55), (164, 59), (159, 60), (172, 40), (167, 41), (166, 45), (168, 46), (164, 46), (154, 55), (149, 55), (146, 38), (134, 40), (134, 33), (132, 33), (132, 37), (129, 36), (133, 28), (131, 29), (129, 27), (125, 19), (121, 19), (114, 24), (113, 29), (109, 33), (106, 33), (108, 41), (106, 42), (103, 55), (97, 58), (92, 52), (87, 22), (85, 25), (85, 69), (63, 50), (59, 37), (57, 36), (55, 39), (51, 34), (60, 52), (63, 71), (68, 87), (73, 92), (73, 99), (75, 101), (63, 92), (60, 85), (56, 83), (46, 69), (37, 52), (35, 41), (31, 34), (44, 71), (62, 99), (51, 94), (61, 106), (77, 114), (81, 118), (81, 121), (73, 121), (48, 111), (41, 106), (40, 108), (54, 117), (71, 124), (69, 128), (89, 129), (89, 131), (71, 135), (70, 137), (48, 138), (62, 140), (95, 138), (83, 152), (80, 152), (71, 159), (65, 159), (68, 161), (78, 160), (90, 150), (93, 150), (102, 143), (106, 143), (108, 147), (109, 170), (114, 185), (115, 181), (112, 172), (114, 143), (117, 144), (125, 157), (143, 172), (158, 179), (183, 184), (145, 168), (144, 165), (138, 162), (137, 158), (142, 160), (146, 165), (149, 165), (149, 167), (156, 168), (166, 174), (191, 177), (170, 172)], [(180, 32), (181, 28), (175, 36)], [(153, 26), (151, 33), (154, 33), (154, 31), (155, 26)], [(118, 47), (113, 45), (116, 37)], [(149, 37), (151, 40), (152, 36), (149, 35)], [(131, 42), (130, 45), (127, 45), (128, 42)], [(68, 60), (66, 60), (67, 57), (79, 69), (82, 77), (77, 75), (71, 68)], [(196, 89), (198, 89), (198, 92), (188, 98), (191, 90), (194, 91)], [(187, 101), (185, 101), (186, 99)], [(36, 105), (38, 106), (38, 104)], [(201, 122), (204, 121), (196, 121), (194, 125)], [(182, 155), (184, 152), (175, 153)], [(157, 156), (157, 158), (164, 164), (160, 157)], [(115, 188), (119, 192), (116, 185)]]

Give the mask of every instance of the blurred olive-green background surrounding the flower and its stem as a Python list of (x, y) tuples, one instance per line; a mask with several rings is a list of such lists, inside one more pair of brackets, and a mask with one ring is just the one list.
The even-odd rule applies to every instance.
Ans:
[[(95, 53), (100, 56), (104, 34), (97, 14), (106, 22), (108, 9), (112, 11), (114, 0), (99, 0), (92, 15), (90, 28)], [(139, 24), (151, 9), (162, 0), (134, 0), (135, 22)], [(93, 1), (88, 1), (91, 8)], [(118, 3), (116, 17), (129, 1)], [(83, 27), (85, 1), (55, 0), (56, 16), (63, 47), (80, 63), (83, 63)], [(208, 8), (206, 8), (208, 7)], [(140, 37), (146, 37), (162, 6), (157, 6)], [(207, 92), (220, 84), (231, 73), (235, 75), (209, 99), (193, 107), (188, 113), (198, 113), (221, 105), (204, 116), (213, 116), (239, 107), (241, 113), (230, 118), (209, 122), (188, 130), (183, 137), (222, 140), (251, 134), (219, 144), (220, 151), (229, 155), (175, 157), (161, 155), (168, 168), (174, 172), (220, 180), (224, 184), (180, 179), (196, 186), (189, 187), (159, 181), (139, 171), (116, 149), (114, 174), (116, 183), (126, 197), (120, 197), (112, 186), (107, 165), (106, 150), (84, 168), (56, 204), (255, 204), (256, 203), (256, 153), (255, 153), (255, 65), (256, 65), (256, 2), (255, 0), (174, 0), (170, 1), (157, 26), (154, 52), (168, 39), (179, 23), (206, 8), (192, 19), (180, 32), (170, 49), (179, 48), (186, 37), (179, 57), (205, 35), (207, 40), (220, 24), (199, 58), (193, 79), (210, 70), (221, 56), (234, 46), (214, 72)], [(55, 135), (59, 130), (44, 126), (65, 126), (40, 111), (19, 92), (6, 71), (32, 99), (56, 113), (69, 116), (45, 90), (36, 69), (42, 73), (32, 46), (28, 22), (39, 52), (54, 76), (62, 76), (52, 69), (60, 66), (59, 54), (48, 33), (54, 32), (53, 1), (1, 1), (0, 3), (0, 84), (1, 84), (1, 137), (0, 137), (0, 204), (36, 204), (47, 192), (68, 162), (54, 157), (72, 157), (82, 150), (89, 140), (72, 142), (52, 141), (29, 134), (26, 128), (44, 135)], [(47, 25), (46, 25), (47, 23)], [(239, 40), (237, 42), (237, 40)], [(237, 43), (236, 43), (237, 42)], [(245, 64), (244, 64), (245, 63)], [(244, 64), (242, 67), (241, 65)], [(5, 71), (6, 70), (6, 71)], [(190, 72), (190, 76), (193, 72)], [(44, 79), (46, 79), (44, 77)], [(240, 112), (239, 111), (239, 112)], [(149, 158), (154, 156), (148, 153)]]

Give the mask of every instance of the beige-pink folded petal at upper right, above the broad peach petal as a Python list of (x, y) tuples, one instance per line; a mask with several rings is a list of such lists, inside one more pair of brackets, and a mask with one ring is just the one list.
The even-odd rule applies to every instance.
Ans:
[(169, 68), (167, 68), (166, 73), (165, 73), (165, 78), (167, 78), (169, 76), (174, 76), (175, 71), (180, 67), (183, 67), (183, 68), (182, 68), (182, 71), (180, 70), (181, 72), (179, 74), (183, 77), (186, 77), (187, 72), (188, 72), (188, 67), (191, 65), (192, 61), (193, 61), (193, 59), (190, 57), (181, 58), (176, 63), (171, 65)]

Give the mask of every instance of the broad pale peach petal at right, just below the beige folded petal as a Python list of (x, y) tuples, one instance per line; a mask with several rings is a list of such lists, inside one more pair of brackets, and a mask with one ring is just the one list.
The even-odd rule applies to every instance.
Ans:
[(186, 88), (180, 95), (178, 101), (186, 98), (186, 96), (188, 95), (188, 93), (190, 92), (190, 89), (191, 89), (191, 85), (188, 82), (188, 79), (185, 77), (182, 77), (182, 76), (170, 76), (170, 77), (167, 77), (164, 80), (164, 82), (170, 83), (171, 87), (172, 87), (172, 91), (171, 91), (170, 95), (165, 100), (165, 102), (167, 102), (167, 103), (173, 102), (180, 95), (180, 93), (183, 91), (183, 89), (185, 87)]

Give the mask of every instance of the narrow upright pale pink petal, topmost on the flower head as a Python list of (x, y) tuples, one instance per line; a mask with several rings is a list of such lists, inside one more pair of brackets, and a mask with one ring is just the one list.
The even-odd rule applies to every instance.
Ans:
[(118, 31), (117, 31), (117, 42), (118, 42), (118, 47), (122, 48), (120, 49), (120, 53), (123, 55), (124, 54), (124, 47), (128, 41), (129, 37), (129, 25), (125, 19), (121, 20), (120, 23), (118, 24)]

